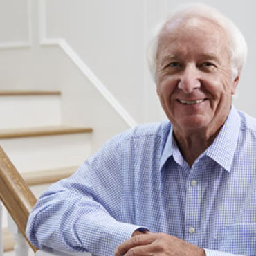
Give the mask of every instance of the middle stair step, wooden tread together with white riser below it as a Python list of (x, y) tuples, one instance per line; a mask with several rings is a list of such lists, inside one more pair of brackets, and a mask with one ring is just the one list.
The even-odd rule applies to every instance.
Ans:
[(91, 128), (1, 130), (0, 145), (20, 173), (81, 165), (91, 154)]

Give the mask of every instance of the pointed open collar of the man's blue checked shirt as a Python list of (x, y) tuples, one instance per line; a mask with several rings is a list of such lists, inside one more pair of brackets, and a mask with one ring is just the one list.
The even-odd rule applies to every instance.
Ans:
[[(219, 163), (219, 165), (228, 172), (230, 172), (232, 159), (237, 147), (240, 125), (239, 113), (237, 112), (237, 109), (232, 106), (228, 118), (219, 131), (219, 134), (214, 139), (212, 145), (210, 145), (210, 147), (203, 153)], [(178, 149), (178, 146), (174, 140), (173, 127), (171, 127), (161, 156), (160, 170), (163, 165), (165, 165), (167, 159), (174, 154), (176, 149)]]

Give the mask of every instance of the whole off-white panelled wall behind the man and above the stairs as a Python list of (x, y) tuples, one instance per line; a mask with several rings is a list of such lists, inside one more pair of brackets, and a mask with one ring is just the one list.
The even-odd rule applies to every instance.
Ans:
[[(102, 140), (135, 123), (159, 120), (163, 116), (147, 71), (146, 46), (158, 21), (185, 2), (190, 1), (1, 0), (0, 87), (62, 89), (63, 121), (96, 126), (104, 123), (109, 133)], [(247, 39), (248, 64), (235, 105), (256, 116), (255, 3), (203, 2), (235, 21)], [(68, 49), (75, 53), (73, 60), (65, 52)], [(78, 62), (80, 68), (85, 65), (92, 71), (112, 98), (106, 97), (104, 90), (99, 93), (79, 64), (77, 67)], [(121, 107), (119, 113), (115, 106)], [(97, 122), (93, 121), (95, 116)], [(113, 123), (117, 129), (112, 129)]]

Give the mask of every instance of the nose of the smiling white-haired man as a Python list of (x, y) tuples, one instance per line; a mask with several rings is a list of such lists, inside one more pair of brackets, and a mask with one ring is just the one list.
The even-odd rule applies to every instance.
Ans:
[(199, 71), (194, 64), (188, 64), (181, 74), (178, 88), (184, 93), (192, 93), (194, 89), (197, 89), (200, 86)]

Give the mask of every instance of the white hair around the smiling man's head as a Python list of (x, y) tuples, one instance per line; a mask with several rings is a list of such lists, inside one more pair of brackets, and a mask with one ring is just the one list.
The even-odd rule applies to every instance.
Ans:
[(187, 3), (179, 6), (174, 10), (167, 19), (156, 27), (152, 40), (149, 42), (149, 48), (147, 51), (147, 61), (149, 64), (149, 71), (152, 77), (156, 81), (156, 55), (158, 51), (158, 43), (163, 26), (169, 21), (176, 18), (181, 18), (186, 15), (194, 17), (205, 17), (211, 19), (216, 24), (221, 26), (228, 36), (230, 46), (231, 68), (234, 78), (239, 76), (241, 70), (246, 62), (247, 57), (247, 44), (244, 36), (237, 26), (228, 17), (224, 16), (219, 10), (208, 6), (205, 3)]

